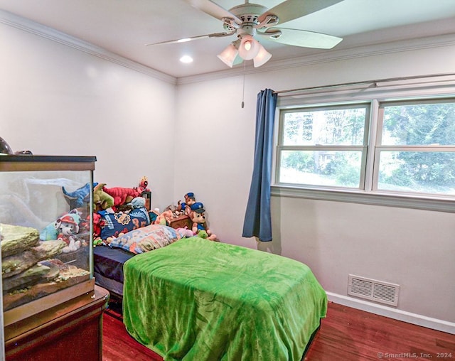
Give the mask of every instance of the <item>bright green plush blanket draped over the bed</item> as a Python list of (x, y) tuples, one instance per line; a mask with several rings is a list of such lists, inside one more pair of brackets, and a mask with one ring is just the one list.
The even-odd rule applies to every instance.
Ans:
[(123, 318), (164, 360), (301, 360), (326, 316), (308, 266), (192, 237), (124, 264)]

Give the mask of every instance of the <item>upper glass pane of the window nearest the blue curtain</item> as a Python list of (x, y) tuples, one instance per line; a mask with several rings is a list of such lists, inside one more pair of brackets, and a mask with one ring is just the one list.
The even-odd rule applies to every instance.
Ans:
[(366, 108), (286, 112), (285, 146), (363, 145)]

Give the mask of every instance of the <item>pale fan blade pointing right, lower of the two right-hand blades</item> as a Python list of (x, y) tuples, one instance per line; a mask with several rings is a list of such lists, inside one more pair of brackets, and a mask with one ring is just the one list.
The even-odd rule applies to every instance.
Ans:
[[(277, 36), (280, 31), (281, 36)], [(343, 40), (337, 36), (287, 28), (271, 28), (269, 32), (265, 31), (264, 33), (257, 33), (257, 35), (267, 36), (267, 40), (277, 41), (278, 43), (318, 49), (331, 49)]]

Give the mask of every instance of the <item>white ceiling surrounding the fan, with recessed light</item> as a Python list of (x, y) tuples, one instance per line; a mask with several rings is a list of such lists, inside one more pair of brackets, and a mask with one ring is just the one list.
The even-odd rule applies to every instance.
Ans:
[[(242, 0), (215, 0), (224, 9)], [(272, 8), (282, 0), (257, 0)], [(304, 0), (302, 0), (302, 4)], [(234, 36), (188, 43), (146, 43), (223, 32), (216, 18), (184, 0), (0, 0), (0, 9), (54, 28), (173, 77), (229, 69), (216, 55)], [(333, 50), (455, 33), (455, 0), (344, 0), (286, 23), (286, 28), (339, 36)], [(272, 61), (333, 50), (264, 41)], [(180, 63), (182, 55), (194, 62)], [(242, 65), (237, 65), (242, 66)]]

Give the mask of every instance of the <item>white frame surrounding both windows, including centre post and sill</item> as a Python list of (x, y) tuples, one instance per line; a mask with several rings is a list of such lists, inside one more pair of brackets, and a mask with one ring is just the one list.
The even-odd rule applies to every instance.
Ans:
[[(424, 193), (399, 193), (390, 190), (378, 190), (378, 152), (390, 149), (382, 146), (378, 141), (382, 136), (382, 124), (378, 129), (380, 119), (380, 104), (402, 102), (427, 102), (430, 100), (455, 101), (455, 75), (441, 81), (441, 78), (423, 77), (413, 80), (388, 82), (359, 83), (358, 86), (350, 84), (348, 87), (311, 88), (299, 94), (280, 96), (277, 102), (277, 122), (275, 122), (274, 159), (272, 171), (272, 195), (279, 197), (307, 198), (316, 200), (331, 200), (347, 203), (361, 203), (367, 205), (384, 205), (400, 208), (414, 208), (421, 210), (434, 210), (441, 212), (455, 212), (455, 196)], [(365, 85), (366, 84), (366, 85)], [(293, 109), (308, 109), (322, 107), (337, 107), (340, 105), (370, 104), (370, 119), (368, 119), (364, 136), (368, 136), (365, 151), (365, 163), (361, 173), (364, 172), (364, 188), (332, 188), (319, 185), (296, 185), (278, 183), (279, 176), (279, 137), (282, 136), (281, 112)], [(369, 126), (369, 128), (368, 128)], [(374, 141), (371, 141), (374, 140)], [(365, 145), (365, 144), (364, 144)], [(393, 146), (402, 149), (405, 146)], [(408, 146), (409, 149), (430, 149), (431, 146)], [(440, 151), (444, 146), (438, 146)], [(313, 148), (314, 149), (314, 148)], [(376, 183), (376, 184), (375, 184)]]

